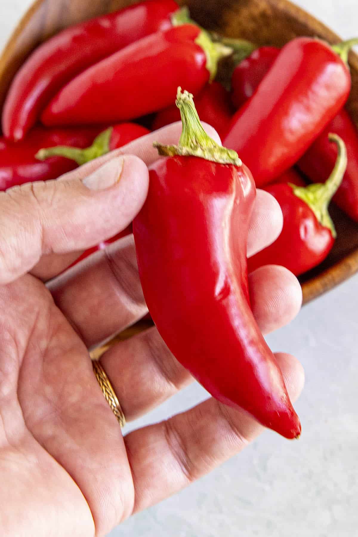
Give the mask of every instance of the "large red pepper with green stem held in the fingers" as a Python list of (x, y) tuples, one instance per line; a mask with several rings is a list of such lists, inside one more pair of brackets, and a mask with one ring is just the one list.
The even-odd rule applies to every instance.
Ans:
[[(252, 175), (204, 132), (178, 93), (183, 132), (150, 166), (133, 221), (145, 300), (164, 341), (211, 395), (287, 438), (301, 432), (280, 368), (254, 320), (246, 268)], [(199, 158), (198, 158), (199, 157)]]

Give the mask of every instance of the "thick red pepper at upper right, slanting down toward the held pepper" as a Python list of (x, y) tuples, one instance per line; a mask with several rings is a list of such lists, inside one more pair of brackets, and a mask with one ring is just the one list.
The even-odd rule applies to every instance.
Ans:
[(318, 39), (293, 39), (236, 112), (223, 143), (249, 166), (256, 186), (297, 162), (344, 105), (350, 90), (346, 60), (354, 43), (330, 47)]

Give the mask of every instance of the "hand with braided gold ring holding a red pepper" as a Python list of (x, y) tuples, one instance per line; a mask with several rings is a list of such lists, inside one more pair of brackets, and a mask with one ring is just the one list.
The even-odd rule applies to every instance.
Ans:
[[(145, 164), (157, 158), (153, 140), (176, 143), (179, 132), (179, 124), (166, 127), (57, 181), (0, 194), (4, 536), (105, 535), (238, 453), (263, 430), (244, 411), (209, 398), (123, 438), (88, 349), (147, 313), (133, 237), (58, 276), (82, 250), (128, 225), (147, 195)], [(276, 201), (258, 191), (249, 255), (272, 242), (281, 226)], [(296, 278), (280, 267), (252, 273), (250, 292), (265, 333), (289, 322), (301, 306)], [(295, 400), (302, 367), (288, 354), (276, 357)], [(127, 420), (193, 380), (155, 328), (116, 344), (101, 364)]]

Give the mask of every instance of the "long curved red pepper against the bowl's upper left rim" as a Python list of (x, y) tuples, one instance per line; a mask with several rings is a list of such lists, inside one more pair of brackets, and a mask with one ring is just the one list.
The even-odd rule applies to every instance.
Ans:
[(23, 139), (50, 99), (79, 72), (146, 35), (168, 30), (177, 10), (174, 0), (147, 0), (71, 26), (40, 45), (13, 79), (3, 110), (4, 135)]

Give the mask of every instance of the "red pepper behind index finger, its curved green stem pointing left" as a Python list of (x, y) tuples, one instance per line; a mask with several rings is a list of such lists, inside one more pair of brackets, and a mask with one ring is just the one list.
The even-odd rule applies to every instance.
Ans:
[(127, 143), (149, 134), (150, 130), (136, 123), (121, 123), (101, 132), (94, 140), (92, 146), (80, 149), (71, 146), (54, 146), (40, 149), (36, 154), (39, 161), (49, 157), (60, 156), (75, 161), (79, 166), (94, 158), (101, 157), (109, 151), (125, 146)]

